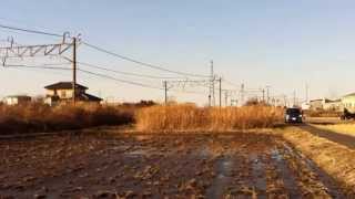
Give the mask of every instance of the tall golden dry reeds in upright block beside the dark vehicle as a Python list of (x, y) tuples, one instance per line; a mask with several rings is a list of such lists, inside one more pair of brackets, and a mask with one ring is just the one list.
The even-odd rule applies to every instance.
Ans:
[(232, 130), (272, 127), (283, 109), (271, 106), (196, 107), (168, 105), (142, 108), (136, 114), (139, 130)]

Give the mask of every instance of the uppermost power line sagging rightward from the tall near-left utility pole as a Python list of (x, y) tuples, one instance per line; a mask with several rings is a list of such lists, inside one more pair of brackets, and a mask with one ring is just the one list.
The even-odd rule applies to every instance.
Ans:
[(160, 70), (160, 71), (164, 71), (164, 72), (169, 72), (169, 73), (175, 73), (175, 74), (180, 74), (180, 75), (184, 75), (184, 76), (207, 77), (206, 75), (200, 75), (200, 74), (184, 73), (184, 72), (168, 70), (168, 69), (164, 69), (164, 67), (162, 67), (162, 66), (153, 65), (153, 64), (145, 63), (145, 62), (141, 62), (141, 61), (138, 61), (138, 60), (134, 60), (134, 59), (131, 59), (131, 57), (128, 57), (128, 56), (123, 56), (123, 55), (121, 55), (121, 54), (118, 54), (118, 53), (108, 51), (108, 50), (105, 50), (105, 49), (102, 49), (102, 48), (100, 48), (100, 46), (97, 46), (97, 45), (93, 45), (93, 44), (90, 44), (90, 43), (87, 43), (87, 42), (82, 42), (82, 43), (83, 43), (84, 45), (91, 48), (91, 49), (97, 50), (97, 51), (100, 51), (100, 52), (110, 54), (110, 55), (115, 56), (115, 57), (119, 57), (119, 59), (121, 59), (121, 60), (125, 60), (125, 61), (129, 61), (129, 62), (136, 63), (136, 64), (139, 64), (139, 65), (148, 66), (148, 67), (151, 67), (151, 69), (154, 69), (154, 70)]

